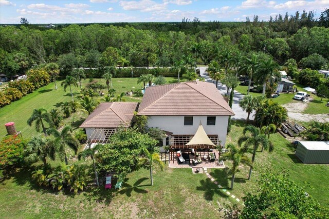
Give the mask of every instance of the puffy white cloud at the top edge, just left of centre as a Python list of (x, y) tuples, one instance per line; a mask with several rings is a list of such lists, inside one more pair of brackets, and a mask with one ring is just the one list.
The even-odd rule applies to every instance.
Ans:
[(151, 0), (145, 1), (120, 1), (120, 6), (123, 10), (126, 11), (142, 11), (142, 12), (150, 12), (150, 11), (161, 11), (167, 8), (166, 2), (163, 4), (158, 4)]

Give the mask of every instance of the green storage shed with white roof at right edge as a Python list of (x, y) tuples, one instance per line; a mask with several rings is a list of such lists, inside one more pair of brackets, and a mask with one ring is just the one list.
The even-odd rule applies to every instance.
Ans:
[(329, 164), (329, 142), (299, 142), (296, 155), (304, 164)]

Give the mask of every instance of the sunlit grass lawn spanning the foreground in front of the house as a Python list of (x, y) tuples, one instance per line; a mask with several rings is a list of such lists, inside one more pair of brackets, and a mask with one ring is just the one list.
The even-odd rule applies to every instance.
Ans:
[[(243, 122), (233, 121), (228, 142), (236, 144), (241, 136)], [(328, 207), (329, 180), (328, 165), (304, 165), (294, 155), (295, 148), (281, 135), (272, 134), (275, 144), (272, 153), (258, 152), (255, 158), (251, 181), (247, 180), (248, 168), (241, 168), (236, 174), (233, 190), (229, 189), (230, 162), (226, 169), (208, 169), (208, 172), (224, 188), (236, 197), (257, 190), (256, 180), (262, 171), (286, 171), (290, 180), (298, 185), (308, 182), (313, 188), (306, 191), (323, 206)], [(71, 162), (71, 161), (69, 161)], [(54, 164), (59, 164), (56, 161)], [(12, 170), (9, 177), (0, 184), (0, 218), (223, 218), (220, 211), (236, 205), (233, 198), (212, 183), (205, 174), (193, 174), (190, 168), (163, 171), (154, 169), (154, 186), (150, 186), (149, 170), (140, 169), (127, 176), (120, 191), (87, 188), (84, 192), (53, 192), (39, 188), (31, 181), (32, 168)]]

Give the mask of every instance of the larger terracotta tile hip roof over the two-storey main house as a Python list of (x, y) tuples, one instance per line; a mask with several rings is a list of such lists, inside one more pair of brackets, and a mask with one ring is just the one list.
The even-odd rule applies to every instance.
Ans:
[(215, 85), (183, 82), (148, 87), (138, 115), (234, 115)]

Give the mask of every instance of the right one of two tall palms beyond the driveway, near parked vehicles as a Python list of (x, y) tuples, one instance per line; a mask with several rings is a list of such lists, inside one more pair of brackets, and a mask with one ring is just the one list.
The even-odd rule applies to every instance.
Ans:
[(263, 83), (263, 96), (265, 96), (266, 83), (270, 81), (271, 85), (273, 85), (273, 82), (276, 82), (280, 78), (278, 67), (278, 63), (273, 61), (272, 58), (261, 61), (255, 78), (260, 83)]

